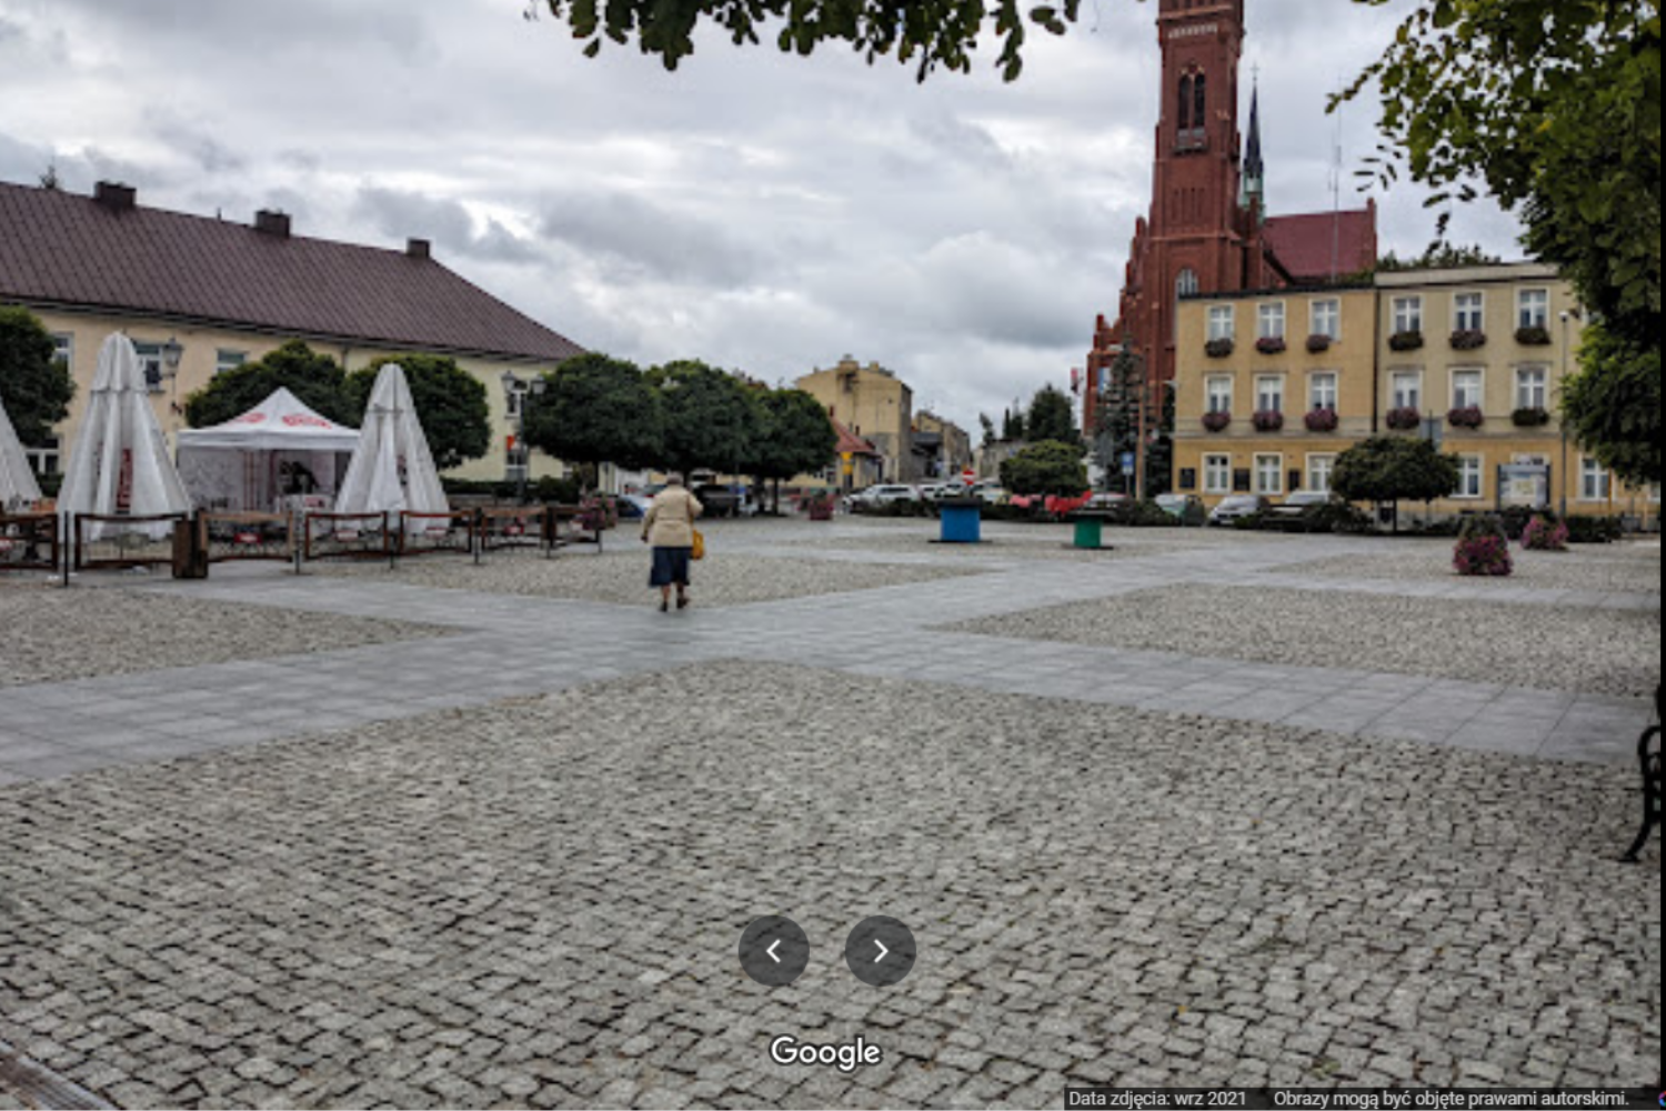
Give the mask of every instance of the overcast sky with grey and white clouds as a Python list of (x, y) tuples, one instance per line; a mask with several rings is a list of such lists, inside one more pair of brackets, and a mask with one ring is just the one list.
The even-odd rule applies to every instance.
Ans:
[[(1248, 0), (1271, 212), (1331, 207), (1326, 92), (1408, 0)], [(1324, 17), (1314, 13), (1323, 8)], [(968, 430), (1066, 385), (1150, 205), (1156, 3), (1086, 0), (1020, 82), (701, 40), (581, 57), (523, 0), (0, 0), (0, 180), (435, 255), (591, 350), (791, 381), (880, 361)], [(1248, 83), (1245, 98), (1248, 100)], [(1241, 113), (1248, 120), (1248, 103)], [(1343, 200), (1376, 142), (1343, 117)], [(1423, 195), (1379, 197), (1418, 253)], [(1519, 257), (1491, 203), (1451, 238)]]

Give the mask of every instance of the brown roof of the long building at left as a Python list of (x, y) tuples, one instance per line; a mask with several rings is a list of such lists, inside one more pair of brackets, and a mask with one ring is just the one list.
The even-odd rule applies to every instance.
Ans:
[(583, 353), (431, 258), (5, 182), (0, 301), (453, 355)]

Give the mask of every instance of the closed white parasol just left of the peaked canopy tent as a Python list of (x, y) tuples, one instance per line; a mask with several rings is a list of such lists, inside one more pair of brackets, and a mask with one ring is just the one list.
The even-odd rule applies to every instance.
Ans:
[[(80, 435), (70, 451), (70, 465), (63, 471), (58, 515), (68, 521), (70, 515), (85, 513), (158, 516), (190, 513), (190, 508), (192, 500), (180, 473), (173, 470), (162, 425), (150, 408), (138, 353), (132, 340), (120, 331), (112, 333), (98, 348), (98, 371), (93, 375)], [(143, 530), (93, 525), (87, 530), (87, 538), (127, 531), (160, 538), (168, 530), (167, 525)]]

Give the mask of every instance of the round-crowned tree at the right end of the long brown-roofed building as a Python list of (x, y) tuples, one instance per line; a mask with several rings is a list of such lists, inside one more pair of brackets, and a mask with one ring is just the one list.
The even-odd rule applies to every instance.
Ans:
[(526, 398), (526, 443), (578, 463), (595, 485), (600, 463), (653, 466), (665, 450), (660, 395), (621, 358), (576, 355), (545, 375), (543, 395)]

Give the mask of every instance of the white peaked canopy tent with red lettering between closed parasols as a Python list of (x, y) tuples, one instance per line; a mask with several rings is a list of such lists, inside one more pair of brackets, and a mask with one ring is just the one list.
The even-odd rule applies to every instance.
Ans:
[(332, 495), (338, 460), (358, 448), (358, 431), (277, 390), (242, 416), (180, 433), (180, 475), (197, 505), (273, 511), (285, 496)]

